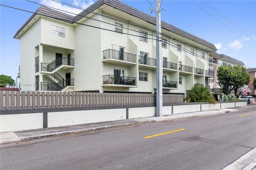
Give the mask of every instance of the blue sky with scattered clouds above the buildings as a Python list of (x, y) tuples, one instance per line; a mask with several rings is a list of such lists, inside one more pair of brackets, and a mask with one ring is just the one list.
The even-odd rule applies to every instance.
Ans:
[[(36, 2), (77, 12), (53, 1)], [(65, 2), (85, 8), (95, 1)], [(150, 14), (150, 4), (146, 0), (122, 2)], [(150, 2), (154, 5), (154, 1)], [(0, 3), (28, 11), (35, 11), (39, 6), (26, 1), (1, 1)], [(223, 53), (241, 60), (246, 67), (256, 67), (256, 1), (207, 1), (205, 3), (204, 1), (164, 0), (161, 7), (163, 21), (210, 41), (217, 46), (219, 54)], [(11, 75), (15, 79), (19, 68), (20, 46), (19, 40), (13, 39), (13, 36), (31, 14), (3, 6), (0, 11), (0, 72)], [(154, 16), (154, 13), (151, 15)]]

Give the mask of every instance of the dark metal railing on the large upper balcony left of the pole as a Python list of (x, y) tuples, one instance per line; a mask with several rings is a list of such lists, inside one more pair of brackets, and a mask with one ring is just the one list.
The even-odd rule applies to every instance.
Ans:
[(103, 50), (103, 59), (107, 58), (136, 63), (135, 54), (125, 53), (114, 49)]

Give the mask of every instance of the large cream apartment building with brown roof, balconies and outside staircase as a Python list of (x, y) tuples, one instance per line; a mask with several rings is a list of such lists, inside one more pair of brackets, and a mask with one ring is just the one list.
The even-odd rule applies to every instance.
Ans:
[[(76, 16), (45, 6), (36, 13), (14, 36), (21, 46), (21, 90), (156, 91), (154, 17), (108, 0)], [(212, 43), (166, 22), (162, 38), (163, 93), (213, 83)]]

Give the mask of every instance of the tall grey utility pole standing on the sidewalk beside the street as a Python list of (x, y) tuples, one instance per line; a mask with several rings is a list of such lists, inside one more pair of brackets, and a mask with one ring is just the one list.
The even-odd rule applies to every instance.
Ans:
[(161, 0), (156, 0), (156, 116), (158, 117), (163, 116), (163, 58), (161, 46)]

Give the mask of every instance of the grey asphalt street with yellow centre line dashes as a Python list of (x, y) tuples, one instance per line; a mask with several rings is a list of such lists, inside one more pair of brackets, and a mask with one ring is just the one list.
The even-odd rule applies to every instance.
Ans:
[(256, 147), (256, 109), (0, 149), (1, 169), (222, 169)]

